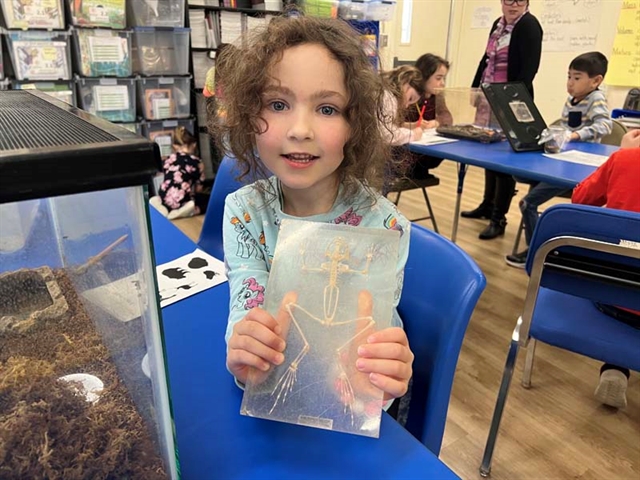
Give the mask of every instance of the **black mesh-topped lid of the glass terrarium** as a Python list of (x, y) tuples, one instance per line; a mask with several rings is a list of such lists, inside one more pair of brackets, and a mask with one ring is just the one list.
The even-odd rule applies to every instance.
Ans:
[(37, 90), (0, 91), (0, 203), (147, 185), (155, 142)]

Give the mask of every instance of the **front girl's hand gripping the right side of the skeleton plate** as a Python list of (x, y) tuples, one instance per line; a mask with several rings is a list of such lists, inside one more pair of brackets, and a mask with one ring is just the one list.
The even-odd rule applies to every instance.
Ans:
[(407, 393), (413, 373), (413, 353), (402, 328), (391, 327), (375, 332), (358, 347), (356, 368), (369, 374), (369, 381), (384, 392), (384, 400)]

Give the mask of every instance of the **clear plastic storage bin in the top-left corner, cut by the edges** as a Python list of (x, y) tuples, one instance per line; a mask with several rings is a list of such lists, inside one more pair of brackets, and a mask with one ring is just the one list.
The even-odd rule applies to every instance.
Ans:
[(62, 0), (0, 0), (7, 28), (64, 28)]

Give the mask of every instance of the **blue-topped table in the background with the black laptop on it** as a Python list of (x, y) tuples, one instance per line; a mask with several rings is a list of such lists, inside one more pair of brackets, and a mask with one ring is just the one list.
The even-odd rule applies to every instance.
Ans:
[[(594, 153), (609, 156), (618, 147), (602, 145), (600, 143), (575, 142), (569, 150)], [(565, 162), (545, 157), (541, 152), (514, 152), (509, 142), (478, 143), (469, 140), (459, 140), (451, 143), (436, 145), (409, 144), (409, 150), (436, 158), (454, 160), (458, 162), (458, 188), (456, 206), (453, 217), (451, 241), (455, 242), (458, 234), (458, 220), (460, 218), (460, 202), (464, 177), (469, 165), (488, 168), (497, 172), (529, 178), (539, 182), (547, 182), (567, 189), (575, 187), (588, 177), (595, 167), (578, 163)]]

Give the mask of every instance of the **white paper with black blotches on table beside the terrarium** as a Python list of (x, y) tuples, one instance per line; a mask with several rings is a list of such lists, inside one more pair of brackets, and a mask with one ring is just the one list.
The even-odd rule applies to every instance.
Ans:
[(156, 273), (163, 308), (227, 281), (224, 263), (199, 248), (158, 265)]

